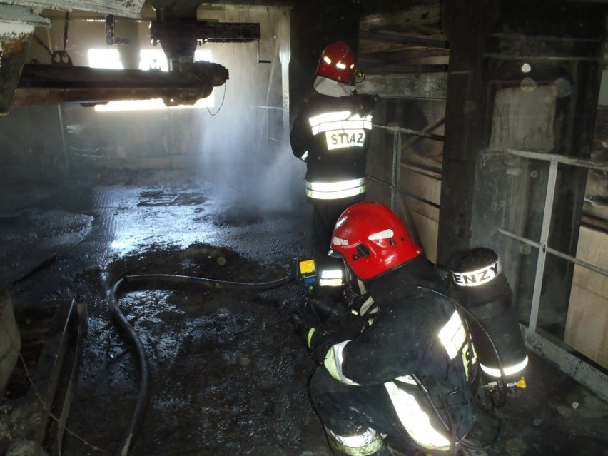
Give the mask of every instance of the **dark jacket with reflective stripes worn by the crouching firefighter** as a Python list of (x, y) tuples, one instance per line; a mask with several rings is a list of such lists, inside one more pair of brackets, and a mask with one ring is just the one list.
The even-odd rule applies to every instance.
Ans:
[(450, 300), (429, 290), (435, 281), (432, 268), (420, 257), (370, 281), (370, 293), (379, 306), (377, 316), (353, 340), (334, 343), (323, 365), (346, 385), (384, 385), (385, 400), (390, 401), (384, 406), (395, 410), (410, 437), (427, 449), (447, 450), (450, 433), (412, 374), (424, 378), (425, 385), (430, 382), (433, 399), (454, 392), (450, 401), (457, 402), (450, 404), (452, 417), (443, 419), (462, 437), (472, 426), (472, 390), (467, 378), (475, 353), (470, 353), (467, 330)]

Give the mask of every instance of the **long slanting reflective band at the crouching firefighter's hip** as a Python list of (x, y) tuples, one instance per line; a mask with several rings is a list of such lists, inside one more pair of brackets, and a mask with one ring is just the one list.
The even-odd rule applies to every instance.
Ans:
[(429, 450), (450, 449), (450, 440), (432, 427), (429, 416), (413, 395), (397, 387), (394, 382), (386, 382), (384, 385), (401, 424), (418, 445)]

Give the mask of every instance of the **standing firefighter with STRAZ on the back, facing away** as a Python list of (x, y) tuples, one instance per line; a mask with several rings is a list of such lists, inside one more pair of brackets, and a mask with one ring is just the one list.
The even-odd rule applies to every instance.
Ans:
[(327, 256), (338, 216), (365, 199), (365, 162), (378, 97), (354, 90), (355, 54), (339, 41), (321, 53), (313, 91), (290, 133), (293, 155), (306, 163), (305, 193), (313, 205), (313, 255), (319, 285), (336, 300), (345, 283), (343, 264)]

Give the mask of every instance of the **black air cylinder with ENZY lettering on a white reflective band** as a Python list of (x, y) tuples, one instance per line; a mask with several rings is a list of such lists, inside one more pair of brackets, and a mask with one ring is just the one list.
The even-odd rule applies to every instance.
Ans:
[(469, 325), (480, 368), (490, 378), (500, 378), (502, 363), (507, 380), (520, 378), (528, 357), (497, 253), (473, 248), (454, 255), (448, 264), (458, 300), (483, 327)]

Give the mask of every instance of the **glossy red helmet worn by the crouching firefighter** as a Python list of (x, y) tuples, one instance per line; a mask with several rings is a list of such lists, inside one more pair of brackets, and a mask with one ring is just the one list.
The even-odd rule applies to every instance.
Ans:
[(374, 278), (422, 253), (389, 208), (365, 201), (350, 206), (335, 224), (330, 253), (340, 253), (361, 280)]

